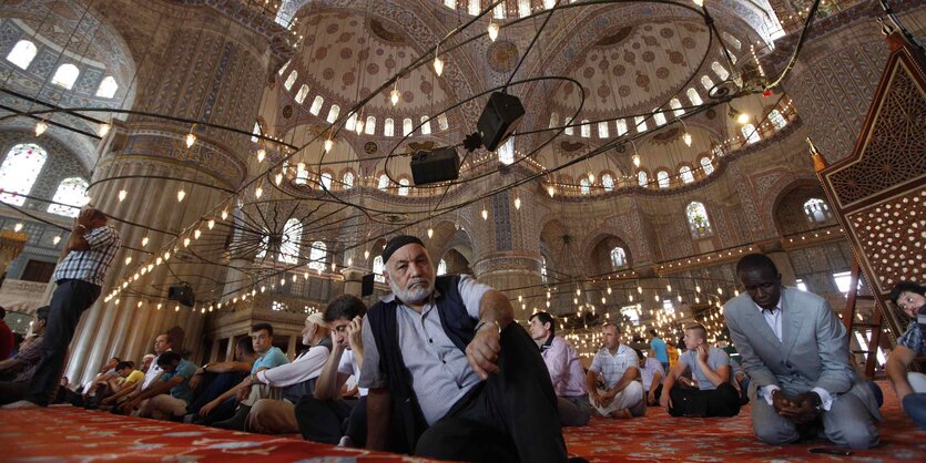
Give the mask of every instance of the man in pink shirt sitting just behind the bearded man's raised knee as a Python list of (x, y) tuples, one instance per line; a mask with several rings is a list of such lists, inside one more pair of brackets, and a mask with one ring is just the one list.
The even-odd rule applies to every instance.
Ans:
[(557, 393), (560, 423), (563, 426), (584, 426), (591, 418), (589, 393), (586, 391), (586, 370), (576, 348), (556, 335), (556, 320), (547, 312), (530, 316), (530, 337), (540, 346), (540, 354), (550, 372)]

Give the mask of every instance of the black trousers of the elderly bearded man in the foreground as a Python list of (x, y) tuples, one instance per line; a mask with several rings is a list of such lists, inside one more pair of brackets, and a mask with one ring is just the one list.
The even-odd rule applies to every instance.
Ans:
[(557, 395), (537, 344), (518, 323), (501, 332), (498, 373), (418, 439), (415, 454), (467, 462), (564, 462)]

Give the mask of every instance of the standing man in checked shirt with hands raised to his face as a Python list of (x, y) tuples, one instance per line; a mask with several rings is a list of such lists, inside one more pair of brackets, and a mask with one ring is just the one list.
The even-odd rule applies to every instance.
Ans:
[(47, 407), (54, 394), (80, 317), (100, 297), (106, 272), (119, 251), (119, 232), (106, 222), (106, 215), (94, 208), (81, 210), (74, 220), (67, 244), (68, 255), (52, 275), (58, 288), (49, 303), (42, 360), (35, 368), (29, 395), (7, 408)]

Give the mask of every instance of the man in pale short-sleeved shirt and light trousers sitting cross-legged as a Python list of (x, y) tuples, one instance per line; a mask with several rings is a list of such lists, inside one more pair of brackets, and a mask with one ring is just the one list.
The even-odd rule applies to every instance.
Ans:
[[(604, 323), (604, 347), (594, 354), (586, 374), (586, 388), (594, 410), (604, 418), (642, 416), (647, 412), (643, 387), (634, 381), (639, 374), (637, 352), (620, 341), (614, 323)], [(599, 374), (604, 383), (598, 389)]]

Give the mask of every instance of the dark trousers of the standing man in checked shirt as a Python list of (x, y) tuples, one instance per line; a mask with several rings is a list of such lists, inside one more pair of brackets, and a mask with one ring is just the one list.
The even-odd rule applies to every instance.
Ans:
[(83, 280), (61, 280), (51, 296), (48, 325), (42, 338), (42, 360), (29, 385), (27, 400), (48, 405), (61, 381), (68, 346), (74, 338), (80, 316), (100, 297), (100, 287)]

